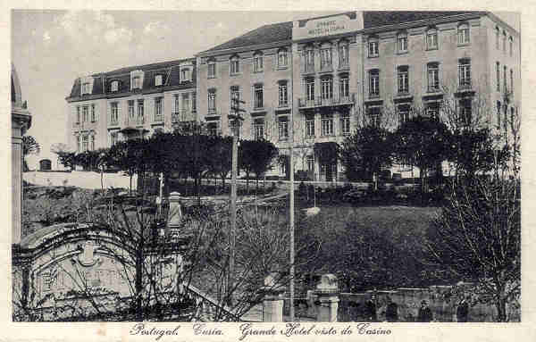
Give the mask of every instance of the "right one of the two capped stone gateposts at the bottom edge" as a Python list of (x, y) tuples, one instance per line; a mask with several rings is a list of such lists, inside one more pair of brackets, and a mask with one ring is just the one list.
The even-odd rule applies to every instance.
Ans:
[(318, 296), (316, 321), (337, 321), (339, 310), (339, 284), (334, 274), (324, 274), (314, 295)]

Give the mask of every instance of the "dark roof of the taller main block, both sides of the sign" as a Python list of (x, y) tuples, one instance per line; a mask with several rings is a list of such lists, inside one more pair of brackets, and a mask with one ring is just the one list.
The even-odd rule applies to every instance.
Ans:
[[(452, 16), (457, 14), (479, 13), (468, 11), (364, 11), (364, 29), (372, 29), (386, 25), (394, 25), (410, 21), (423, 21), (439, 17)], [(292, 39), (292, 21), (278, 22), (264, 25), (258, 29), (251, 30), (238, 38), (214, 46), (202, 52), (202, 54), (227, 50), (231, 48), (255, 46), (266, 43), (275, 43)]]

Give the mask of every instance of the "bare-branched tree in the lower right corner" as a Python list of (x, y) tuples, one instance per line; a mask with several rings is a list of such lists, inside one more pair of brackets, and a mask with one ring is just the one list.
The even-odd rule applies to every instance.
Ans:
[(521, 205), (519, 180), (478, 177), (454, 181), (449, 201), (431, 226), (432, 263), (457, 279), (475, 282), (483, 302), (508, 321), (507, 304), (520, 296)]

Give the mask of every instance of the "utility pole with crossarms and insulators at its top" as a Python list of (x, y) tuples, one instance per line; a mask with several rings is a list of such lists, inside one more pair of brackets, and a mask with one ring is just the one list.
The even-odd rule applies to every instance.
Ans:
[(235, 132), (232, 132), (232, 170), (230, 181), (230, 232), (229, 232), (229, 271), (227, 272), (227, 302), (232, 303), (231, 288), (233, 282), (234, 262), (235, 262), (235, 245), (236, 245), (236, 230), (237, 230), (237, 176), (239, 169), (239, 134), (240, 134), (240, 121), (242, 119), (241, 113), (246, 112), (240, 109), (240, 104), (245, 104), (244, 101), (240, 101), (239, 98), (231, 99), (231, 112), (229, 114), (229, 120), (233, 121), (233, 126), (238, 127)]

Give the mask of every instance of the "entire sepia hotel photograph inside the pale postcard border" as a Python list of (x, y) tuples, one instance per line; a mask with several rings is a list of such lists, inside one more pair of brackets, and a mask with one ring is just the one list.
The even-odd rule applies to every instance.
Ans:
[(521, 13), (238, 9), (11, 11), (11, 321), (523, 322)]

